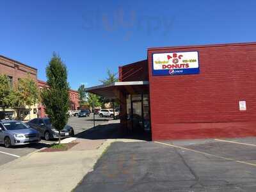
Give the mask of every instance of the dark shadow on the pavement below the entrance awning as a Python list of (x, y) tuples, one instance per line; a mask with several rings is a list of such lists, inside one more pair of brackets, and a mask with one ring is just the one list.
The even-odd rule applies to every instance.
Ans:
[(76, 134), (77, 138), (87, 140), (106, 140), (106, 139), (134, 139), (151, 141), (150, 132), (133, 131), (128, 132), (122, 129), (119, 124), (97, 125), (91, 129)]

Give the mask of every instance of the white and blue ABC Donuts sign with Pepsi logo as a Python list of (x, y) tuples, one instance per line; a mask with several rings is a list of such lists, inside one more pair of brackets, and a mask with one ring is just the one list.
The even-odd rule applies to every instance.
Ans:
[(197, 51), (152, 54), (153, 76), (199, 74)]

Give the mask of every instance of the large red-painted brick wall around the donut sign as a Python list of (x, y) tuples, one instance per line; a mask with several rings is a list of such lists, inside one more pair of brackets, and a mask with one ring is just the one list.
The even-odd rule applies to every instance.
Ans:
[[(152, 76), (170, 51), (198, 51), (200, 74)], [(148, 49), (148, 72), (153, 140), (256, 136), (256, 44)]]

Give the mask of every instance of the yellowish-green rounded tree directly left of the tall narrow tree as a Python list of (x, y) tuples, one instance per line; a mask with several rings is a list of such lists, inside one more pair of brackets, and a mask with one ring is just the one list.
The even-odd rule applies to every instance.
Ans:
[[(16, 97), (15, 97), (16, 95)], [(13, 100), (17, 99), (15, 102), (16, 106), (26, 106), (29, 107), (29, 120), (31, 118), (30, 111), (31, 106), (35, 105), (39, 100), (39, 90), (36, 82), (31, 76), (19, 79), (17, 84), (16, 94), (13, 94)]]

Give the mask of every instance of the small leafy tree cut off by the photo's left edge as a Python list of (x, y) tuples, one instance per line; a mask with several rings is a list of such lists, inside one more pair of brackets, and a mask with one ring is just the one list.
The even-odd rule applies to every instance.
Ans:
[(12, 92), (12, 87), (8, 77), (6, 75), (0, 75), (0, 108), (3, 109), (3, 113), (6, 108), (12, 107)]

